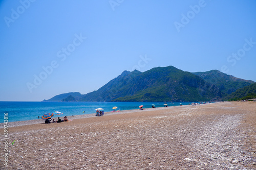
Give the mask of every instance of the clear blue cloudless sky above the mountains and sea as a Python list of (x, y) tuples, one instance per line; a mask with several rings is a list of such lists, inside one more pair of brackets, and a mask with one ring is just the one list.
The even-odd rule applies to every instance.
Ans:
[(97, 90), (124, 70), (256, 82), (256, 1), (0, 1), (0, 101)]

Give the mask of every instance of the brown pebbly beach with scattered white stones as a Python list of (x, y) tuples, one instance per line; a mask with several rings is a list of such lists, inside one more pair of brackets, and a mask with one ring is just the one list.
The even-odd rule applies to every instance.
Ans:
[(256, 169), (256, 102), (68, 119), (9, 123), (8, 167), (2, 156), (0, 169)]

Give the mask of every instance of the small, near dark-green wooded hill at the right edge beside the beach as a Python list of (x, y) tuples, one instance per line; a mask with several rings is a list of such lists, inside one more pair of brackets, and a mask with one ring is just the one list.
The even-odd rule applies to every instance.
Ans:
[(239, 101), (248, 99), (256, 99), (256, 83), (253, 83), (244, 88), (240, 88), (237, 91), (228, 95), (226, 98), (226, 100), (229, 101)]

